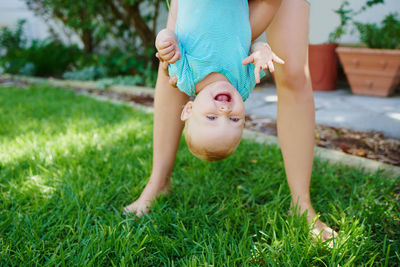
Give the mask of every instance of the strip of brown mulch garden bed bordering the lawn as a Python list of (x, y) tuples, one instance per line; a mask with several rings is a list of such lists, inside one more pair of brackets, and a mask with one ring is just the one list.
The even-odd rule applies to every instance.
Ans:
[[(0, 83), (3, 85), (26, 87), (33, 82), (35, 82), (35, 79), (13, 79), (7, 76), (0, 78)], [(57, 80), (56, 84), (68, 86), (77, 93), (90, 93), (149, 107), (153, 105), (154, 101), (152, 92), (149, 89), (140, 87), (132, 89), (132, 87), (114, 86), (107, 90), (100, 90), (96, 88), (96, 84), (93, 82), (64, 82), (63, 84), (63, 81)], [(269, 135), (277, 135), (276, 121), (271, 118), (249, 114), (246, 116), (246, 128)], [(400, 166), (400, 140), (385, 137), (379, 132), (359, 132), (318, 124), (315, 129), (315, 143), (319, 147)]]

